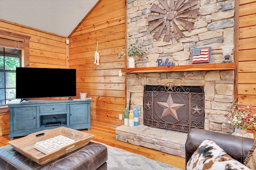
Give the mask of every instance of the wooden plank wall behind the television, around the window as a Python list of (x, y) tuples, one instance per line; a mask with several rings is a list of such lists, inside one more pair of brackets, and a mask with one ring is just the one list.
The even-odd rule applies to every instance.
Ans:
[[(66, 37), (0, 20), (0, 30), (30, 36), (30, 67), (68, 68)], [(1, 35), (0, 35), (1, 36)], [(9, 108), (0, 108), (0, 135), (10, 132)]]

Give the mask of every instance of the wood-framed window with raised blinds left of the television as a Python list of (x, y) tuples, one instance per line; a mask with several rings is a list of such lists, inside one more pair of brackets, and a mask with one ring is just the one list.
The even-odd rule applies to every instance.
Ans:
[(29, 39), (0, 30), (0, 106), (17, 100), (16, 67), (29, 66)]

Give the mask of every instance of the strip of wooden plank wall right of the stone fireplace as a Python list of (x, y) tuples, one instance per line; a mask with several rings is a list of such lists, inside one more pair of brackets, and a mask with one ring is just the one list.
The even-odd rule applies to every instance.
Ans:
[(252, 104), (256, 113), (256, 0), (239, 1), (239, 34), (236, 37), (238, 54), (237, 94), (244, 106)]

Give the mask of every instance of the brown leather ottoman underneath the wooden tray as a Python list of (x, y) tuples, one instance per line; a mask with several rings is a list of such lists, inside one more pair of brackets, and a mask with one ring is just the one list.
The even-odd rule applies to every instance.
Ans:
[(107, 160), (107, 148), (93, 142), (44, 165), (37, 164), (10, 145), (0, 147), (1, 170), (107, 170)]

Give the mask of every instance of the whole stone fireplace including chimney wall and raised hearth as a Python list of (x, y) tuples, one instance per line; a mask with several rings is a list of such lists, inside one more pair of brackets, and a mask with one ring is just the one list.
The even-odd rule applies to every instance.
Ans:
[[(155, 4), (158, 8), (165, 9), (160, 2), (159, 0), (127, 1), (127, 36), (138, 40), (140, 45), (148, 49), (146, 56), (140, 57), (135, 62), (135, 67), (150, 67), (150, 71), (143, 72), (148, 69), (138, 69), (137, 72), (126, 72), (126, 107), (129, 107), (129, 103), (131, 103), (131, 109), (138, 106), (139, 126), (116, 128), (116, 139), (185, 157), (186, 132), (144, 125), (144, 86), (165, 86), (166, 83), (172, 82), (175, 86), (203, 87), (203, 129), (232, 133), (233, 128), (227, 123), (228, 119), (224, 114), (227, 113), (234, 99), (234, 70), (217, 68), (217, 66), (216, 69), (212, 68), (211, 70), (207, 68), (190, 70), (189, 68), (191, 50), (195, 48), (211, 47), (210, 64), (222, 63), (224, 60), (222, 46), (234, 45), (235, 6), (234, 0), (197, 1), (198, 4), (187, 9), (188, 11), (198, 9), (198, 16), (189, 19), (194, 22), (192, 29), (187, 31), (178, 24), (183, 36), (176, 39), (171, 33), (170, 41), (166, 42), (163, 39), (164, 32), (168, 30), (167, 27), (164, 27), (159, 39), (155, 39), (154, 34), (161, 25), (150, 32), (147, 31), (148, 26), (152, 25), (152, 22), (147, 20), (147, 16), (150, 14), (160, 15), (150, 11), (150, 8)], [(166, 2), (170, 3), (170, 1)], [(183, 3), (186, 2), (188, 0), (183, 1)], [(174, 5), (177, 3), (178, 0), (175, 0)], [(170, 4), (168, 5), (170, 6)], [(171, 27), (171, 32), (172, 29)], [(158, 72), (159, 68), (156, 67), (158, 59), (162, 59), (162, 61), (168, 59), (169, 62), (175, 63), (175, 66), (170, 66), (170, 71)], [(233, 56), (231, 56), (231, 60), (234, 61)], [(174, 68), (174, 71), (171, 71), (172, 67), (179, 66), (184, 70)]]

